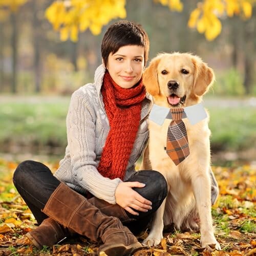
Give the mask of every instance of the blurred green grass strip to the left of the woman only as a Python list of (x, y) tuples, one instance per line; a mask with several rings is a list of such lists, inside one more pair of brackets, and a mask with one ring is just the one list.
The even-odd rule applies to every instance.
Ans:
[(69, 99), (57, 102), (0, 102), (0, 145), (60, 146), (67, 144)]

